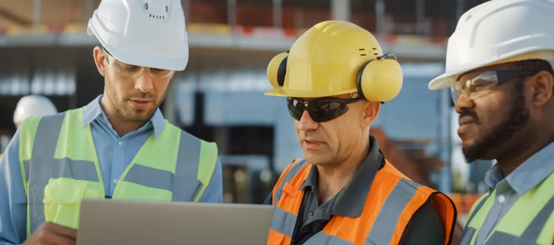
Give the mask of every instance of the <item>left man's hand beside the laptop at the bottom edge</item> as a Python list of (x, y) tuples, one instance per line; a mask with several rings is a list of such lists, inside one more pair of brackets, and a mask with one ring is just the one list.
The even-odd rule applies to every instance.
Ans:
[(77, 230), (60, 226), (56, 223), (43, 223), (34, 233), (26, 239), (23, 245), (38, 245), (38, 244), (56, 244), (67, 245), (75, 244), (77, 239)]

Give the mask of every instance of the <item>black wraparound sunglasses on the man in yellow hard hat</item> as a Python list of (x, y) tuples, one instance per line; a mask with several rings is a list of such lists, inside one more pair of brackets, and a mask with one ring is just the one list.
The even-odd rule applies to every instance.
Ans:
[(326, 122), (338, 118), (348, 111), (347, 104), (364, 100), (362, 97), (355, 99), (324, 98), (316, 100), (297, 100), (287, 97), (286, 106), (291, 116), (300, 120), (302, 113), (308, 111), (309, 116), (316, 122)]

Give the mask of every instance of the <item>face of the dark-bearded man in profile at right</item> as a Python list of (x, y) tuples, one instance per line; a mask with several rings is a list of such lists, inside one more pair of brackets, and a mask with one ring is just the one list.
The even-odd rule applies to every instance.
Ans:
[[(472, 80), (479, 86), (479, 76), (493, 70), (509, 67), (495, 66), (461, 76), (459, 82)], [(500, 77), (500, 75), (499, 75)], [(477, 79), (476, 79), (477, 78)], [(495, 159), (502, 155), (502, 145), (514, 139), (530, 120), (530, 111), (525, 101), (524, 82), (529, 76), (511, 77), (500, 84), (472, 89), (471, 94), (461, 95), (456, 100), (459, 116), (458, 135), (462, 151), (468, 162), (477, 159)]]

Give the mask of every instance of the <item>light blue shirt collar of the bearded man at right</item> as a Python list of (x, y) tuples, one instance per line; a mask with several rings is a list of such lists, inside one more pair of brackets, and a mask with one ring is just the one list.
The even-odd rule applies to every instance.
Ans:
[(498, 164), (494, 164), (486, 172), (485, 184), (489, 188), (495, 189), (498, 182), (505, 179), (518, 196), (523, 196), (523, 194), (533, 189), (553, 172), (554, 142), (551, 142), (539, 150), (539, 152), (523, 161), (523, 164), (518, 166), (507, 177), (504, 177), (502, 168)]

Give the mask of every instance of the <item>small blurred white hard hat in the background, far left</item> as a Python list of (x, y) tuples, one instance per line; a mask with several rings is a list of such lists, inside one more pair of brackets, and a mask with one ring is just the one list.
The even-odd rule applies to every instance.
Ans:
[(13, 123), (20, 125), (29, 116), (49, 116), (56, 113), (58, 113), (56, 106), (47, 97), (27, 95), (17, 102), (13, 113)]

